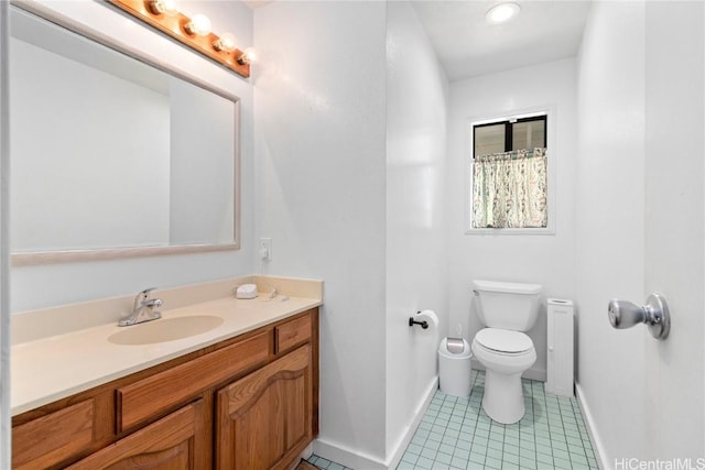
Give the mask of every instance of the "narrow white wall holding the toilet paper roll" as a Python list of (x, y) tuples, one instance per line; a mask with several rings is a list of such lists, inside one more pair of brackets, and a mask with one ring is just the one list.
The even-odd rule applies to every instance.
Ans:
[[(448, 323), (445, 221), (448, 81), (410, 2), (387, 3), (387, 456), (433, 393)], [(433, 309), (440, 328), (409, 328)], [(401, 447), (401, 451), (404, 447)]]

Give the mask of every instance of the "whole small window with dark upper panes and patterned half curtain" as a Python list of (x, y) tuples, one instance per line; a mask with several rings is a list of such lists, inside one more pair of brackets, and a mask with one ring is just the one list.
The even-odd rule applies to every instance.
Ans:
[(471, 125), (471, 229), (545, 229), (547, 114)]

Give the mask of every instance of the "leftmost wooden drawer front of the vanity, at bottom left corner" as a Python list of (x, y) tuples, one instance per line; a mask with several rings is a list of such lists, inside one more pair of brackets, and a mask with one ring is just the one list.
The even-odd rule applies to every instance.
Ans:
[(46, 468), (93, 442), (94, 400), (76, 403), (12, 429), (12, 467)]

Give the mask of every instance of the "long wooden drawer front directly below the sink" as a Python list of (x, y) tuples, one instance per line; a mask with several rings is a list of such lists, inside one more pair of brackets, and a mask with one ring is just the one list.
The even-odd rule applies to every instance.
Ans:
[(265, 363), (269, 357), (270, 335), (269, 331), (261, 332), (118, 389), (118, 431), (158, 416), (160, 412), (183, 403), (202, 393), (204, 389), (250, 367)]

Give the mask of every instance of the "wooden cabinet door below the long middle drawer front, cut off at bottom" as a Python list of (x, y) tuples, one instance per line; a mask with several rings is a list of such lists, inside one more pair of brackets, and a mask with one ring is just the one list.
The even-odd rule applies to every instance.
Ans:
[(72, 470), (205, 469), (203, 400), (68, 467)]

